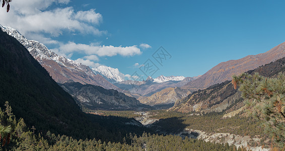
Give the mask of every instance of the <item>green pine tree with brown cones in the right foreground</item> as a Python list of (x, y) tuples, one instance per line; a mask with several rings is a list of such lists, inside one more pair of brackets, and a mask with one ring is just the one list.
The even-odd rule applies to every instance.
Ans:
[(283, 147), (285, 143), (285, 75), (265, 78), (255, 73), (234, 75), (233, 81), (240, 85), (248, 113), (261, 120), (265, 132)]

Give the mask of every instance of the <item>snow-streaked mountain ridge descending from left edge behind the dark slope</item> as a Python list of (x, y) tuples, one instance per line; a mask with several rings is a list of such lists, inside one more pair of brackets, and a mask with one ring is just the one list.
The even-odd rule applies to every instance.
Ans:
[(44, 44), (26, 39), (16, 29), (2, 25), (0, 28), (23, 44), (57, 83), (79, 82), (119, 90), (118, 87), (104, 80), (101, 75), (96, 75), (89, 66), (51, 52)]

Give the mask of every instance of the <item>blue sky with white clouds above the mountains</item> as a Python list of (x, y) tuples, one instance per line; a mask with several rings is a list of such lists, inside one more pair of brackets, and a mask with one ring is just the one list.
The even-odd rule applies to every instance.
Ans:
[[(0, 24), (60, 55), (130, 75), (151, 59), (159, 67), (154, 78), (193, 77), (285, 39), (282, 1), (37, 2), (14, 0), (9, 13), (1, 9)], [(152, 57), (161, 46), (172, 56), (162, 65)]]

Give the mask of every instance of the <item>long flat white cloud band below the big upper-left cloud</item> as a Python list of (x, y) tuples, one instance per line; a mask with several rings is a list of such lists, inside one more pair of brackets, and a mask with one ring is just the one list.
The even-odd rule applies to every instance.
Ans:
[(59, 47), (59, 51), (64, 54), (73, 53), (73, 52), (81, 52), (88, 55), (98, 55), (98, 56), (134, 56), (137, 54), (141, 54), (139, 48), (136, 45), (127, 46), (127, 47), (114, 47), (110, 46), (98, 46), (94, 44), (76, 44), (74, 42), (68, 42), (66, 44), (61, 44)]

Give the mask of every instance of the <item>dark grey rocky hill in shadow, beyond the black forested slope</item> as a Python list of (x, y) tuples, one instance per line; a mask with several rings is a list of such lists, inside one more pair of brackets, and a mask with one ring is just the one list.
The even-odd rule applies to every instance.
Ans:
[(64, 83), (60, 86), (87, 109), (125, 110), (147, 107), (133, 97), (128, 97), (116, 90), (106, 90), (100, 86)]

